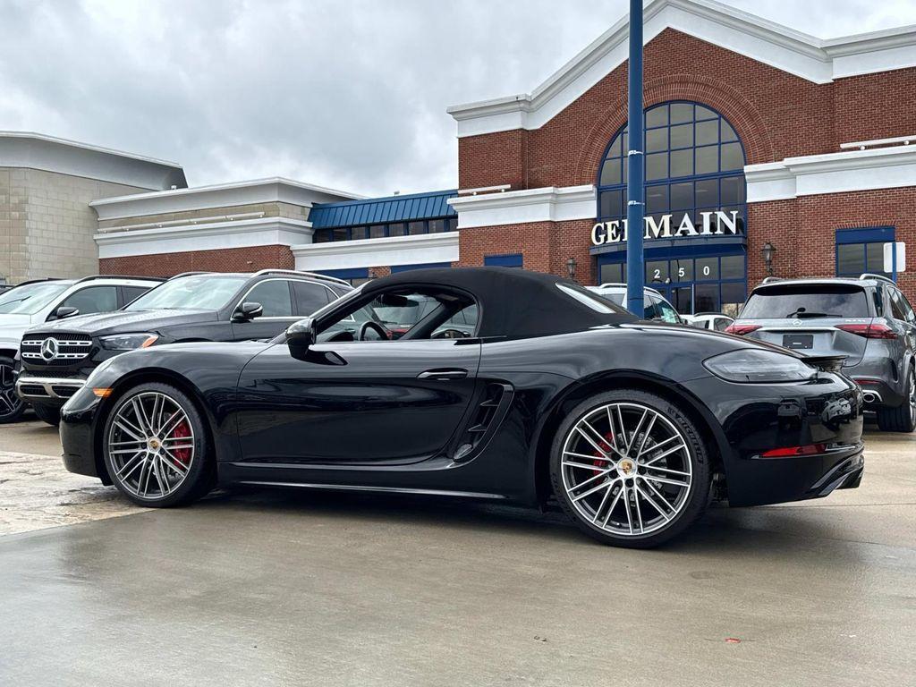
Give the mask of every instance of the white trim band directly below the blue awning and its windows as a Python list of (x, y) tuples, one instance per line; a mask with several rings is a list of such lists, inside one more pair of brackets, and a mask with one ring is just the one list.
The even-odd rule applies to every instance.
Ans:
[(296, 269), (352, 269), (456, 262), (458, 232), (293, 245)]

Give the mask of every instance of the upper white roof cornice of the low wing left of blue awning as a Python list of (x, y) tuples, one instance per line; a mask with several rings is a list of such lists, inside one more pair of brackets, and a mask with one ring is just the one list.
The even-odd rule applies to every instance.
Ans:
[(118, 198), (105, 198), (89, 204), (98, 214), (99, 220), (104, 221), (263, 202), (288, 202), (292, 205), (311, 207), (316, 202), (352, 201), (359, 198), (363, 196), (282, 177), (271, 177), (213, 186), (198, 186), (193, 189), (137, 193)]

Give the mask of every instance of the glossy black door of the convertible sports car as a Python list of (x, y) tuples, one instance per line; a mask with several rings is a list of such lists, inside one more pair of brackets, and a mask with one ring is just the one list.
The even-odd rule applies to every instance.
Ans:
[(245, 462), (416, 463), (442, 453), (463, 426), (480, 343), (389, 340), (375, 330), (376, 340), (353, 341), (335, 327), (357, 304), (322, 322), (342, 340), (304, 351), (274, 344), (245, 366), (237, 413)]

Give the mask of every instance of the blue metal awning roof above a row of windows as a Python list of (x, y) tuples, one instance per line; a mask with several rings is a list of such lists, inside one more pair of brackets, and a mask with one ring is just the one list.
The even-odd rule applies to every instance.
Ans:
[(411, 222), (437, 217), (457, 217), (446, 202), (458, 191), (431, 191), (387, 198), (367, 198), (360, 201), (325, 202), (315, 205), (309, 221), (315, 229), (330, 229), (364, 224)]

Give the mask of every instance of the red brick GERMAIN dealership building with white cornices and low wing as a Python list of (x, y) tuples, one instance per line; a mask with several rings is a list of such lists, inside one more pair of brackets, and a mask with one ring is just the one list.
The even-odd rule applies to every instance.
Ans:
[[(96, 200), (100, 267), (622, 280), (627, 35), (624, 17), (531, 93), (448, 108), (457, 191), (360, 199), (274, 179)], [(779, 276), (880, 272), (891, 241), (912, 254), (916, 29), (823, 40), (711, 0), (651, 0), (644, 35), (647, 282), (679, 310), (736, 310), (767, 243)], [(911, 300), (914, 274), (899, 275)]]

